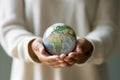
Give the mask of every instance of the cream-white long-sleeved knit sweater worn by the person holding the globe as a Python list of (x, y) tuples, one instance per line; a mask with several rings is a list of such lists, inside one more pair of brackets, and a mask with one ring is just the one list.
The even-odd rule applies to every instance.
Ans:
[[(107, 80), (102, 63), (118, 43), (118, 1), (1, 0), (0, 43), (13, 58), (11, 80)], [(77, 36), (93, 44), (86, 65), (53, 69), (32, 60), (28, 43), (57, 22), (72, 26)]]

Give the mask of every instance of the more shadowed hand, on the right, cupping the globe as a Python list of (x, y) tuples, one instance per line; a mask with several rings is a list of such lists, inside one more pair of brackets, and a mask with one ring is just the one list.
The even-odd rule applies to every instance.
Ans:
[[(73, 52), (70, 52), (68, 56), (63, 54), (61, 59), (64, 59), (69, 66), (72, 66), (75, 63), (84, 63), (92, 54), (93, 46), (85, 38), (77, 38), (77, 46)], [(64, 56), (64, 57), (63, 57)]]

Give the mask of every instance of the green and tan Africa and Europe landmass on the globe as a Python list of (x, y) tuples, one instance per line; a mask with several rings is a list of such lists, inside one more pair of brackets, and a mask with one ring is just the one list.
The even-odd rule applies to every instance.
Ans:
[(70, 27), (66, 25), (61, 27), (58, 26), (48, 37), (48, 43), (54, 46), (56, 52), (60, 52), (60, 50), (62, 49), (63, 42), (65, 41), (65, 39), (67, 39), (66, 37), (69, 37), (71, 40), (73, 40), (74, 36), (75, 34)]

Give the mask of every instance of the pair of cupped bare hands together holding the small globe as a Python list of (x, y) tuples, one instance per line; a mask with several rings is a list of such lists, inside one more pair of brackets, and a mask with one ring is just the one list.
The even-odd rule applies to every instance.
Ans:
[(29, 53), (36, 62), (41, 62), (53, 68), (70, 67), (77, 64), (84, 63), (92, 54), (93, 46), (85, 38), (78, 37), (76, 49), (70, 52), (69, 55), (65, 53), (61, 55), (49, 55), (42, 44), (42, 39), (37, 38), (30, 42)]

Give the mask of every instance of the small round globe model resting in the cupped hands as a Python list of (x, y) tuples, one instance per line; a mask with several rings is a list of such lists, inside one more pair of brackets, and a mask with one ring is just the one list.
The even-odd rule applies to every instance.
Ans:
[(64, 23), (53, 24), (43, 35), (46, 51), (52, 55), (69, 54), (75, 49), (76, 41), (74, 30)]

